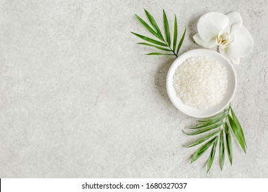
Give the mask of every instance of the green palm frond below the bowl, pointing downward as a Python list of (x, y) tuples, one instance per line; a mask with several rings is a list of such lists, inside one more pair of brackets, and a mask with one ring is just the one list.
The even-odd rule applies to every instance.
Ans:
[(205, 153), (205, 151), (208, 150), (208, 148), (212, 145), (210, 156), (208, 157), (207, 160), (208, 165), (207, 171), (210, 171), (212, 164), (214, 162), (216, 147), (219, 140), (219, 160), (220, 160), (219, 163), (221, 170), (223, 169), (225, 163), (225, 153), (228, 154), (230, 163), (232, 165), (233, 152), (232, 152), (232, 134), (230, 134), (230, 128), (234, 132), (234, 136), (238, 141), (239, 145), (241, 145), (243, 151), (246, 152), (247, 145), (245, 143), (245, 136), (243, 133), (243, 129), (241, 123), (238, 121), (238, 118), (234, 113), (234, 110), (232, 110), (231, 104), (228, 108), (226, 108), (222, 112), (219, 112), (219, 114), (214, 115), (213, 117), (209, 117), (207, 119), (202, 119), (201, 125), (197, 125), (194, 128), (190, 128), (190, 129), (200, 129), (199, 131), (193, 133), (186, 133), (183, 131), (188, 135), (197, 135), (202, 134), (204, 132), (208, 132), (210, 130), (217, 129), (215, 132), (212, 132), (207, 136), (203, 136), (195, 143), (186, 146), (186, 147), (194, 147), (205, 141), (208, 141), (210, 138), (214, 136), (213, 139), (208, 141), (208, 143), (205, 143), (205, 145), (203, 145), (196, 152), (194, 152), (194, 154), (192, 155), (191, 163), (200, 158)]

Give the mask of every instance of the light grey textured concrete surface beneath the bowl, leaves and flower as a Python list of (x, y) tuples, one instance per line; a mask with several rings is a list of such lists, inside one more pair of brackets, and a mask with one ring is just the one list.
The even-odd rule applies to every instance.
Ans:
[[(254, 52), (235, 66), (233, 106), (245, 129), (233, 166), (190, 164), (195, 119), (172, 106), (166, 74), (175, 57), (145, 56), (130, 32), (148, 9), (176, 13), (181, 53), (209, 11), (241, 13)], [(0, 1), (1, 178), (267, 178), (267, 1)], [(162, 26), (161, 26), (162, 28)]]

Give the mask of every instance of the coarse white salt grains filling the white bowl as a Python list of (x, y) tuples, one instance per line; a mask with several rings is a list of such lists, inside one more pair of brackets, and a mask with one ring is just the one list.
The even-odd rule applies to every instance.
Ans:
[(173, 87), (184, 104), (205, 110), (219, 104), (227, 89), (227, 70), (206, 56), (188, 58), (175, 71)]

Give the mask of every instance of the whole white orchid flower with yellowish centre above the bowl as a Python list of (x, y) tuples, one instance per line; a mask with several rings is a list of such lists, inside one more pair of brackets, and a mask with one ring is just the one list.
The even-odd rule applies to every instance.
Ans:
[(234, 64), (253, 50), (254, 40), (238, 12), (208, 12), (200, 17), (197, 32), (193, 36), (197, 44), (205, 48), (219, 45), (219, 52)]

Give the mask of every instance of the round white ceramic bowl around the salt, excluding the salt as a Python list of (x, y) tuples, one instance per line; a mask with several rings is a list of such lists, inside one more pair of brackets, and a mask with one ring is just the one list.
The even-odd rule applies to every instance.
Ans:
[[(223, 98), (220, 104), (216, 106), (212, 106), (206, 110), (199, 110), (197, 108), (193, 108), (191, 106), (183, 104), (181, 99), (177, 97), (177, 94), (173, 87), (173, 75), (175, 74), (176, 69), (185, 60), (187, 60), (188, 58), (192, 56), (208, 56), (209, 58), (213, 60), (217, 60), (220, 64), (222, 64), (227, 69), (228, 84), (227, 84), (225, 97)], [(198, 118), (211, 117), (221, 112), (223, 109), (225, 109), (230, 104), (230, 101), (232, 101), (232, 98), (234, 97), (234, 93), (236, 91), (236, 72), (234, 71), (234, 67), (232, 66), (230, 61), (227, 60), (227, 58), (222, 56), (220, 53), (216, 51), (210, 51), (208, 49), (193, 49), (191, 51), (187, 51), (186, 53), (183, 53), (181, 56), (179, 56), (179, 58), (177, 58), (172, 63), (168, 71), (168, 76), (166, 78), (166, 89), (168, 91), (168, 97), (170, 98), (170, 101), (172, 102), (172, 104), (184, 114), (189, 115), (191, 117), (198, 117)]]

